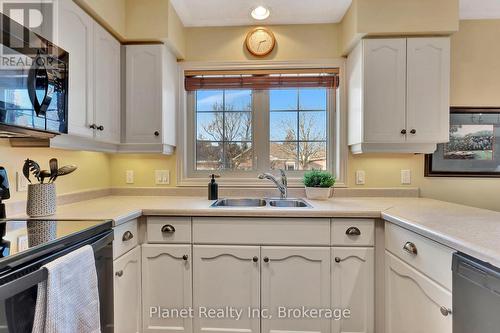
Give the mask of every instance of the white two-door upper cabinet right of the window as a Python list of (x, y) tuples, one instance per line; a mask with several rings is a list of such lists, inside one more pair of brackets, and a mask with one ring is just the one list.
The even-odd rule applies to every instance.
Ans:
[(449, 135), (448, 37), (364, 39), (347, 60), (354, 153), (430, 153)]

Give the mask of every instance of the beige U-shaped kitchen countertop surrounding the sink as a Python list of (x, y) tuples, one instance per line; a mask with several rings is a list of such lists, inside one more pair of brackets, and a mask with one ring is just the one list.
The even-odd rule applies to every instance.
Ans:
[(57, 219), (112, 219), (141, 215), (383, 218), (500, 267), (500, 212), (426, 198), (307, 200), (313, 208), (210, 208), (201, 197), (106, 196), (58, 207)]

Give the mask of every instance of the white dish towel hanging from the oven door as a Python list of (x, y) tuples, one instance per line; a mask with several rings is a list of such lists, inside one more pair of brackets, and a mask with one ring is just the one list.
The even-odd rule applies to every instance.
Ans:
[(94, 251), (83, 246), (44, 266), (33, 333), (99, 333), (99, 290)]

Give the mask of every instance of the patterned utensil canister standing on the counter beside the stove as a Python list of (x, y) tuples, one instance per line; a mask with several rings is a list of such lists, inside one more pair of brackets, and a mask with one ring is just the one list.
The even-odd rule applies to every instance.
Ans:
[(26, 214), (43, 217), (56, 213), (56, 184), (29, 184)]

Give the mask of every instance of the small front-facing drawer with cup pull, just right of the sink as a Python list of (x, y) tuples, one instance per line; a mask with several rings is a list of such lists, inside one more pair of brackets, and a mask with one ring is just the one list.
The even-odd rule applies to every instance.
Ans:
[(365, 219), (333, 219), (332, 245), (373, 246), (375, 221)]

